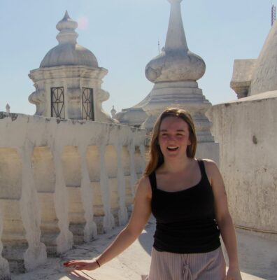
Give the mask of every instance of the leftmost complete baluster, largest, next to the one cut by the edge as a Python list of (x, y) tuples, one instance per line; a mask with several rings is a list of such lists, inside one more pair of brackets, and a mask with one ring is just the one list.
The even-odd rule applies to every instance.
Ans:
[(28, 241), (28, 248), (24, 253), (24, 267), (30, 270), (43, 264), (46, 261), (47, 255), (46, 247), (41, 243), (41, 209), (39, 207), (32, 169), (34, 145), (27, 140), (24, 146), (18, 148), (17, 151), (22, 161), (20, 209)]

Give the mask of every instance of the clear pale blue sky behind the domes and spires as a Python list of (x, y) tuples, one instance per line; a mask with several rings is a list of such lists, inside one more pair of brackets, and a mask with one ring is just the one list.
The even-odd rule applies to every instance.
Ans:
[[(201, 56), (206, 73), (199, 87), (211, 104), (236, 99), (229, 87), (234, 59), (257, 58), (271, 28), (273, 0), (183, 0), (188, 48)], [(79, 23), (78, 44), (108, 69), (102, 88), (110, 113), (141, 102), (153, 84), (145, 66), (164, 46), (168, 0), (0, 0), (0, 111), (33, 115), (35, 88), (29, 71), (57, 45), (57, 22), (65, 11)], [(160, 47), (158, 48), (158, 41)]]

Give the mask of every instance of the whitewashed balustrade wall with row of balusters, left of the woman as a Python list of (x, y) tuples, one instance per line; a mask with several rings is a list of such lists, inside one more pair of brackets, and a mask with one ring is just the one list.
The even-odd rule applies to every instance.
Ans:
[(0, 279), (127, 222), (145, 131), (0, 113)]

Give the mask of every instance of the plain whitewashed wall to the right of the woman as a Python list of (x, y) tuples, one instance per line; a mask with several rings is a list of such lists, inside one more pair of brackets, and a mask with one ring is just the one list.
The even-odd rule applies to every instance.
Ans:
[(277, 240), (277, 91), (213, 106), (234, 223)]

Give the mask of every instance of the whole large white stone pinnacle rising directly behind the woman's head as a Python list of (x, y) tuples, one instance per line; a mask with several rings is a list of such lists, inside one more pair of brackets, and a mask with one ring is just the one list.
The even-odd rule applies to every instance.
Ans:
[(145, 67), (146, 77), (155, 85), (149, 99), (142, 106), (148, 118), (141, 127), (152, 130), (164, 109), (178, 106), (192, 114), (198, 142), (213, 142), (211, 123), (205, 116), (211, 103), (204, 97), (197, 83), (205, 73), (205, 62), (187, 47), (180, 10), (181, 0), (168, 1), (171, 10), (164, 50)]

